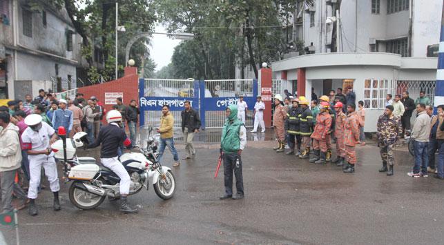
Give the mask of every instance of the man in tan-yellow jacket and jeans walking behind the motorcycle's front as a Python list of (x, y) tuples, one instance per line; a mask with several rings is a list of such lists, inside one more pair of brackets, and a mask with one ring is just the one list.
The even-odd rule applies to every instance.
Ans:
[(174, 137), (173, 137), (173, 126), (174, 117), (170, 112), (170, 107), (168, 105), (162, 106), (162, 117), (160, 117), (160, 127), (157, 129), (157, 133), (160, 133), (160, 146), (159, 146), (159, 157), (158, 160), (162, 159), (164, 155), (165, 147), (168, 146), (171, 154), (174, 157), (173, 167), (180, 166), (179, 155), (177, 155), (177, 150), (174, 147)]

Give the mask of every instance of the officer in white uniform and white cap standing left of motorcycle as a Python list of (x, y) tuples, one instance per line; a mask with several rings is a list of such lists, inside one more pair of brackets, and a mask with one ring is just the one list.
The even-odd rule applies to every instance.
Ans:
[(56, 211), (60, 210), (59, 177), (57, 175), (57, 167), (55, 166), (54, 153), (52, 153), (50, 148), (50, 144), (57, 140), (57, 134), (53, 128), (41, 120), (41, 116), (37, 114), (26, 117), (25, 124), (28, 125), (28, 128), (21, 135), (21, 148), (22, 150), (27, 150), (29, 159), (30, 181), (28, 198), (30, 199), (30, 205), (28, 213), (30, 215), (37, 215), (35, 199), (37, 198), (37, 187), (40, 184), (42, 166), (45, 168), (45, 175), (54, 194), (52, 208)]

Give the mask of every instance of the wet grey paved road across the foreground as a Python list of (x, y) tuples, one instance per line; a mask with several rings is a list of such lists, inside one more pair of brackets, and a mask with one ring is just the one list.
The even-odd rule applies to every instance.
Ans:
[[(378, 173), (378, 148), (358, 150), (353, 175), (327, 164), (273, 152), (271, 142), (244, 150), (246, 198), (220, 201), (223, 174), (213, 179), (217, 146), (198, 151), (195, 161), (174, 170), (177, 193), (169, 201), (150, 190), (131, 202), (137, 215), (118, 213), (105, 201), (82, 211), (61, 190), (62, 210), (51, 195), (38, 199), (37, 217), (19, 213), (22, 244), (441, 244), (444, 182), (407, 177), (412, 157), (397, 154), (395, 175)], [(171, 163), (171, 156), (165, 160)], [(168, 165), (168, 164), (167, 164)], [(10, 244), (12, 228), (1, 227)]]

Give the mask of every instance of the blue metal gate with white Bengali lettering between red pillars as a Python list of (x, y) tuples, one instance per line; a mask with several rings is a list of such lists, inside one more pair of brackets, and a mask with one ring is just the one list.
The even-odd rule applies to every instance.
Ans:
[(221, 128), (225, 120), (224, 110), (236, 104), (240, 95), (244, 96), (249, 108), (245, 125), (251, 127), (258, 95), (258, 81), (255, 79), (139, 79), (140, 126), (158, 126), (162, 106), (168, 105), (175, 119), (175, 128), (180, 128), (180, 112), (184, 110), (184, 102), (190, 101), (200, 113), (202, 128)]

